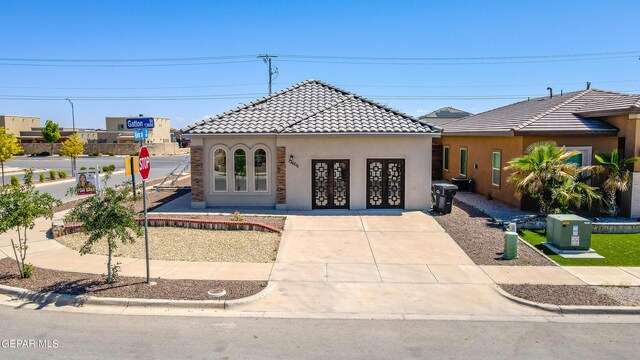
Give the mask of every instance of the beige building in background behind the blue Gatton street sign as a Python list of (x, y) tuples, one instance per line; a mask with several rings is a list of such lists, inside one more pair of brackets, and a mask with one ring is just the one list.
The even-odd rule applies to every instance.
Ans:
[[(133, 130), (127, 129), (127, 119), (137, 116), (107, 116), (105, 118), (106, 130), (98, 133), (98, 141), (101, 143), (131, 143)], [(171, 120), (169, 118), (152, 117), (155, 127), (149, 129), (147, 144), (171, 142)]]

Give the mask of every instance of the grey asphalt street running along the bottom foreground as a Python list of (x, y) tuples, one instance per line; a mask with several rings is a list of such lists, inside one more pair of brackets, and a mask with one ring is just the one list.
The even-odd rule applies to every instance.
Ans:
[[(619, 319), (556, 323), (210, 318), (4, 306), (0, 319), (3, 359), (575, 360), (637, 359), (640, 350), (640, 324)], [(49, 347), (16, 348), (17, 339), (37, 344), (40, 340), (39, 345)]]

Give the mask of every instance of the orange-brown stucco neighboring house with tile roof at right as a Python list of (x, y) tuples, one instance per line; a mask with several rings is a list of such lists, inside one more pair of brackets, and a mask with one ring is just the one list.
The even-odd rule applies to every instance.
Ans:
[[(619, 149), (626, 157), (640, 155), (640, 95), (587, 89), (530, 99), (441, 125), (443, 178), (472, 178), (475, 191), (518, 208), (535, 203), (518, 199), (506, 183), (507, 162), (522, 156), (531, 144), (553, 140), (580, 152), (572, 159), (591, 165), (593, 155)], [(640, 216), (640, 165), (631, 191), (622, 199), (625, 216)]]

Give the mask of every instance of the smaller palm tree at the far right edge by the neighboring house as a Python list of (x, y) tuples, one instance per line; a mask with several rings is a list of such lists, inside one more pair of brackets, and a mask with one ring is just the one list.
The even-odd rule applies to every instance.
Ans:
[(602, 184), (602, 188), (609, 205), (608, 214), (615, 217), (619, 212), (616, 202), (618, 191), (624, 192), (629, 189), (630, 172), (627, 169), (627, 165), (640, 161), (640, 158), (623, 159), (618, 154), (617, 149), (613, 150), (611, 154), (597, 154), (595, 158), (599, 165), (594, 167), (594, 172), (606, 174), (606, 180)]

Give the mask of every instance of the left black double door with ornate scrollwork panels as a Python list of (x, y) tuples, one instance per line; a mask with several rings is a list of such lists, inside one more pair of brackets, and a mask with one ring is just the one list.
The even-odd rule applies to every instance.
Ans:
[(349, 160), (312, 160), (314, 209), (349, 208)]

